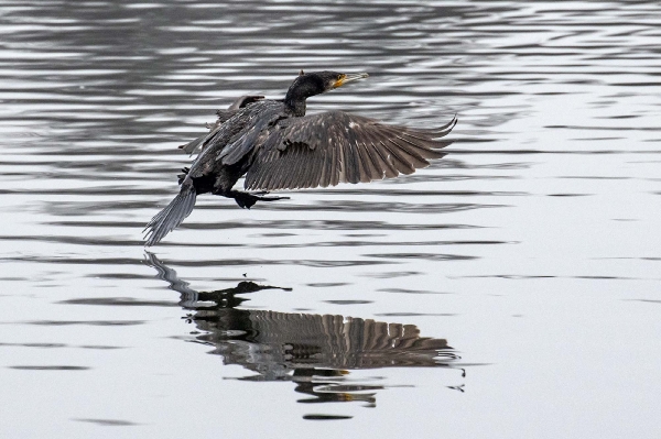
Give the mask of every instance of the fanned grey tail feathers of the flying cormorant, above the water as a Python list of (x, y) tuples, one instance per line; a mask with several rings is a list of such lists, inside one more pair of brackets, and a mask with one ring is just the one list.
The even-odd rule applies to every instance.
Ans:
[(196, 196), (193, 182), (189, 178), (184, 180), (178, 195), (144, 227), (143, 231), (147, 231), (144, 246), (158, 244), (167, 233), (177, 228), (193, 211)]

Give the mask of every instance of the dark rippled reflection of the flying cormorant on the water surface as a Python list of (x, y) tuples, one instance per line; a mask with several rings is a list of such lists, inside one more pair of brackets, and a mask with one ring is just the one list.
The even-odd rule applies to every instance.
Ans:
[[(236, 295), (278, 288), (241, 282), (237, 287), (197, 292), (176, 272), (148, 253), (159, 278), (182, 295), (180, 305), (205, 331), (198, 341), (213, 345), (227, 364), (240, 364), (253, 380), (289, 380), (302, 369), (376, 369), (452, 366), (457, 359), (444, 339), (421, 337), (414, 325), (388, 323), (344, 316), (239, 309)], [(281, 288), (286, 289), (286, 288)]]

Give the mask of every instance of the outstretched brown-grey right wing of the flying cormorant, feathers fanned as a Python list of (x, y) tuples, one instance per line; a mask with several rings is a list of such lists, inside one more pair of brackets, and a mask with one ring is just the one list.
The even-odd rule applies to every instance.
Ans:
[(330, 111), (280, 122), (258, 145), (246, 189), (295, 189), (371, 182), (411, 174), (441, 158), (437, 141), (456, 124), (437, 130), (384, 125), (373, 119)]

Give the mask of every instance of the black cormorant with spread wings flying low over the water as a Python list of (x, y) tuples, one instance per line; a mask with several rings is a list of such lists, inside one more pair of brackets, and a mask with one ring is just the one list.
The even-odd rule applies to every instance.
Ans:
[[(183, 146), (202, 153), (180, 176), (180, 194), (147, 224), (147, 246), (161, 241), (195, 207), (199, 194), (234, 198), (242, 208), (269, 190), (335, 186), (412, 174), (441, 158), (438, 150), (452, 142), (437, 141), (449, 133), (456, 118), (436, 130), (384, 125), (373, 119), (328, 111), (305, 116), (306, 99), (368, 75), (315, 72), (290, 86), (284, 100), (249, 97), (219, 113), (208, 134)], [(241, 108), (241, 105), (245, 107)], [(239, 107), (238, 109), (236, 107)], [(246, 193), (232, 186), (246, 175)]]

